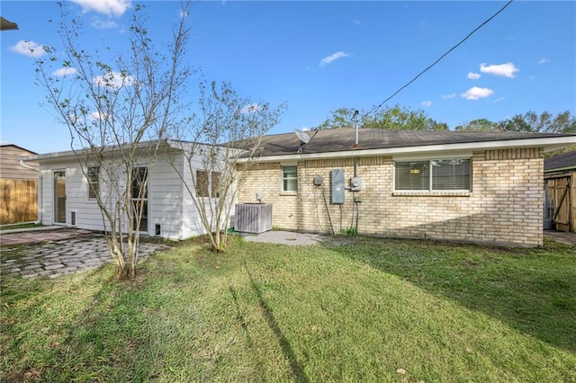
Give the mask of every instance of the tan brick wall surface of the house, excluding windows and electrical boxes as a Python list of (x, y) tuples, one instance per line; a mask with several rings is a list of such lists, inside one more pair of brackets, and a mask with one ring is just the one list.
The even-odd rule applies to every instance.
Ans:
[[(344, 169), (346, 185), (355, 159), (302, 160), (298, 192), (282, 192), (282, 165), (261, 163), (247, 171), (238, 202), (273, 204), (277, 228), (331, 232), (356, 227), (360, 234), (472, 242), (542, 245), (543, 159), (540, 148), (474, 152), (470, 192), (394, 192), (392, 156), (358, 158), (362, 191), (331, 203), (330, 174)], [(324, 184), (314, 186), (320, 175)], [(362, 201), (355, 205), (354, 196)]]

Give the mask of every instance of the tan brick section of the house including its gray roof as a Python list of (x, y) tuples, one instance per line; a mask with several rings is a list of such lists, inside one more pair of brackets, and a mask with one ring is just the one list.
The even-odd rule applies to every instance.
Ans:
[(543, 152), (574, 135), (327, 129), (266, 136), (238, 202), (289, 230), (543, 244)]

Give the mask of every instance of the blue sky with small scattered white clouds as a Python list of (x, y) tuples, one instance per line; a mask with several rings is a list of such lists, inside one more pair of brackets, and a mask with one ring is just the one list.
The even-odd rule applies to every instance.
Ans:
[[(121, 43), (126, 0), (75, 0), (85, 49)], [(163, 40), (178, 2), (145, 2)], [(310, 129), (338, 108), (370, 110), (506, 2), (244, 2), (193, 5), (190, 64), (255, 101), (285, 102), (271, 133)], [(58, 47), (58, 5), (2, 1), (20, 30), (2, 31), (1, 136), (39, 153), (69, 148), (67, 129), (42, 107), (26, 44)], [(28, 41), (28, 42), (24, 42)], [(24, 47), (24, 49), (22, 49)], [(120, 48), (119, 48), (120, 49)], [(386, 105), (422, 109), (452, 129), (527, 111), (576, 114), (576, 3), (515, 1)]]

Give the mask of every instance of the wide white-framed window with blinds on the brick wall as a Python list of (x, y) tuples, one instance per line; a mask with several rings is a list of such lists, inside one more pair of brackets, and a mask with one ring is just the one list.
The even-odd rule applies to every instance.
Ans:
[(394, 163), (396, 191), (470, 191), (470, 158), (446, 158)]

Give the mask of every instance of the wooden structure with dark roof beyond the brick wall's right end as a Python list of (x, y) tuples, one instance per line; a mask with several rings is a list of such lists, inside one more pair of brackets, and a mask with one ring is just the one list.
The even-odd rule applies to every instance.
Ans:
[(576, 151), (544, 160), (545, 228), (576, 233)]

